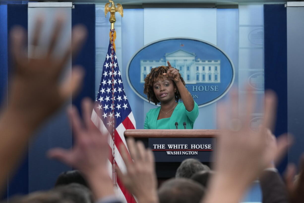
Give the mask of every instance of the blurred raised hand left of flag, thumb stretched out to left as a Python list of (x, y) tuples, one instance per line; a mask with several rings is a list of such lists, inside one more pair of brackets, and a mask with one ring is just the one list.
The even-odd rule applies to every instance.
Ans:
[(105, 129), (101, 133), (92, 122), (92, 108), (90, 99), (82, 101), (83, 121), (75, 107), (68, 109), (75, 135), (74, 146), (69, 150), (51, 149), (48, 156), (81, 170), (99, 200), (114, 195), (114, 187), (107, 167), (109, 131)]

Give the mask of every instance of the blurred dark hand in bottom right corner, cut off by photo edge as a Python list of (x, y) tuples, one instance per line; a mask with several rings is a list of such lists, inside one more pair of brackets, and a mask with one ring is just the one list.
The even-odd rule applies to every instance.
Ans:
[(300, 160), (300, 172), (295, 180), (296, 167), (294, 164), (287, 166), (285, 182), (290, 203), (302, 203), (304, 199), (304, 154)]

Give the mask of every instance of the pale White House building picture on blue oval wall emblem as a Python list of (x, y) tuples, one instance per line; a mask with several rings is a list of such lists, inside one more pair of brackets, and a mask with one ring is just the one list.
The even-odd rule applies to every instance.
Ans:
[(160, 60), (140, 60), (140, 82), (151, 69), (157, 66), (166, 66), (167, 61), (171, 66), (179, 69), (181, 76), (187, 84), (197, 83), (220, 83), (220, 60), (195, 59), (195, 53), (190, 53), (179, 49), (172, 53), (166, 53), (165, 59)]

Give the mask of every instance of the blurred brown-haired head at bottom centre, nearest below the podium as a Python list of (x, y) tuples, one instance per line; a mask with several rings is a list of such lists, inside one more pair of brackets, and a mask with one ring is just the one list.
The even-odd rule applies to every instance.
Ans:
[(204, 194), (202, 185), (186, 178), (167, 180), (158, 190), (159, 203), (199, 203)]

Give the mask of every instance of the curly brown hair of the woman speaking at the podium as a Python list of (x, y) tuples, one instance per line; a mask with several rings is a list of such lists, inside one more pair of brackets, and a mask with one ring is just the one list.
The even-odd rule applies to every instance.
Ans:
[[(151, 72), (145, 78), (145, 84), (143, 87), (143, 93), (147, 95), (147, 99), (150, 102), (153, 102), (155, 105), (159, 102), (156, 98), (153, 90), (154, 81), (163, 76), (163, 73), (167, 73), (169, 66), (158, 66), (156, 68), (152, 68)], [(181, 78), (181, 82), (186, 85), (184, 79), (181, 77), (181, 73), (179, 73), (179, 77)], [(175, 101), (178, 102), (181, 99), (181, 94), (178, 91), (176, 84), (173, 82), (174, 87), (176, 88), (175, 92)]]

